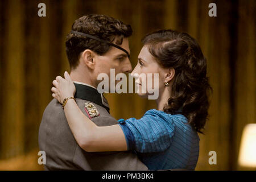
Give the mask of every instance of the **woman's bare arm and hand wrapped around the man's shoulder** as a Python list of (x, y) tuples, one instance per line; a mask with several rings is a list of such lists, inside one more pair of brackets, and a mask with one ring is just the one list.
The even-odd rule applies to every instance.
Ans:
[[(56, 77), (53, 81), (55, 88), (52, 88), (52, 96), (61, 104), (64, 98), (71, 97), (75, 93), (75, 85), (68, 73), (65, 72), (64, 76), (65, 79)], [(82, 113), (73, 99), (67, 101), (64, 112), (68, 125), (83, 150), (88, 152), (127, 150), (125, 135), (119, 125), (97, 126)]]

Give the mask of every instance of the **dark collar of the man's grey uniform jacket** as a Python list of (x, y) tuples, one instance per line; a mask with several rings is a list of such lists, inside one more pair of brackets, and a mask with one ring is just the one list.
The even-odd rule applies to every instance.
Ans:
[(104, 107), (109, 113), (109, 104), (106, 98), (98, 93), (98, 90), (94, 86), (73, 81), (76, 87), (75, 98), (81, 98), (82, 100), (93, 102), (97, 105)]

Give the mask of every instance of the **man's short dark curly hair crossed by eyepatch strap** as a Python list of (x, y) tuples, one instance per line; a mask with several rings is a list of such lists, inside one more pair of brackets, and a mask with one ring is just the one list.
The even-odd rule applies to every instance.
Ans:
[[(90, 34), (119, 45), (122, 44), (123, 38), (128, 38), (133, 33), (129, 24), (110, 16), (98, 14), (85, 15), (75, 20), (72, 24), (72, 30)], [(113, 42), (115, 38), (117, 39)], [(98, 55), (104, 55), (110, 47), (109, 44), (72, 33), (67, 35), (65, 44), (71, 69), (75, 69), (79, 65), (80, 53), (85, 49), (90, 49)]]

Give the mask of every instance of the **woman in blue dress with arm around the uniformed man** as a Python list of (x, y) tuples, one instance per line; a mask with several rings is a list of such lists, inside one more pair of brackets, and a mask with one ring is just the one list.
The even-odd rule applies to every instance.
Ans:
[[(202, 133), (207, 120), (211, 89), (205, 57), (195, 39), (177, 31), (156, 31), (142, 42), (132, 73), (159, 73), (158, 110), (146, 111), (141, 119), (119, 119), (118, 125), (98, 127), (69, 99), (64, 107), (69, 127), (85, 151), (134, 150), (151, 170), (193, 170), (199, 156), (197, 132)], [(146, 89), (141, 80), (135, 82), (139, 90)], [(75, 93), (67, 72), (53, 85), (52, 96), (61, 104)]]

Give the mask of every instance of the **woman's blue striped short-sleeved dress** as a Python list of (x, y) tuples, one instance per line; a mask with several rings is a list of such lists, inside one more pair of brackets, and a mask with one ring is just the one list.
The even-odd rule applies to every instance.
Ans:
[(135, 151), (148, 169), (195, 169), (200, 139), (184, 115), (151, 109), (141, 119), (118, 122), (128, 150)]

